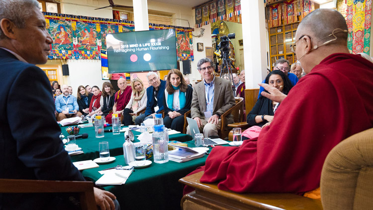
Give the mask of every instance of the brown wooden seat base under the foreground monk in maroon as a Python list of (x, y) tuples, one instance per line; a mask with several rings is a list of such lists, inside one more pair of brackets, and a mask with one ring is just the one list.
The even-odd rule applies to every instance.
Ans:
[(203, 171), (179, 182), (195, 188), (182, 198), (183, 210), (322, 210), (321, 201), (289, 193), (234, 193), (200, 183)]

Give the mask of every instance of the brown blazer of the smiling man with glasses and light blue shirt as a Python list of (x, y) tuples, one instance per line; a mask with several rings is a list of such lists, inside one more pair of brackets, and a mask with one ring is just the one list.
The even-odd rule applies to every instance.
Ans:
[[(226, 79), (221, 79), (215, 76), (214, 81), (214, 105), (212, 114), (219, 113), (222, 115), (228, 109), (236, 104), (234, 100), (232, 86)], [(204, 112), (206, 111), (206, 95), (203, 81), (194, 85), (193, 99), (191, 101), (191, 118), (199, 117), (204, 119)], [(227, 123), (233, 123), (233, 116), (227, 116)]]

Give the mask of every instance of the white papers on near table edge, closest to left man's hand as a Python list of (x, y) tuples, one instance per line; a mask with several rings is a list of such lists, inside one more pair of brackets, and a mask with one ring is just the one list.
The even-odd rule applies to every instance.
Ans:
[(96, 181), (96, 185), (121, 185), (126, 183), (132, 170), (110, 169), (98, 172), (103, 175)]

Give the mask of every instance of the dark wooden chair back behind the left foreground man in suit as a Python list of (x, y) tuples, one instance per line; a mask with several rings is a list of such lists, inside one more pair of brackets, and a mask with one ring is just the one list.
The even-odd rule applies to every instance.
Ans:
[(79, 193), (82, 210), (97, 210), (93, 182), (0, 179), (0, 193)]

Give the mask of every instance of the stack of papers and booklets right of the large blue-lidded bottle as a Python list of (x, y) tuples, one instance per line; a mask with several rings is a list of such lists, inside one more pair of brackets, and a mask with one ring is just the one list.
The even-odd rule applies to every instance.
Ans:
[(187, 148), (183, 146), (172, 145), (176, 150), (169, 151), (169, 159), (175, 162), (186, 162), (192, 159), (203, 157), (205, 150), (198, 150), (198, 148)]

